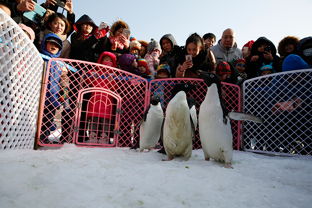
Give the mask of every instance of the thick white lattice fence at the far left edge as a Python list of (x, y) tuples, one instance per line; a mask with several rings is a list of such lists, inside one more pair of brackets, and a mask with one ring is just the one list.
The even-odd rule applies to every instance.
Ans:
[(0, 150), (33, 149), (43, 59), (0, 9)]

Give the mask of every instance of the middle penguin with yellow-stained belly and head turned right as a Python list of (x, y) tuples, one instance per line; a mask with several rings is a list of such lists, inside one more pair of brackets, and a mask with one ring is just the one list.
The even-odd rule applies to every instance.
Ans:
[(161, 132), (168, 160), (172, 160), (174, 156), (184, 156), (188, 160), (192, 156), (192, 136), (195, 135), (195, 125), (191, 119), (186, 93), (196, 87), (197, 85), (194, 84), (179, 83), (171, 90), (171, 100), (166, 109), (166, 118)]

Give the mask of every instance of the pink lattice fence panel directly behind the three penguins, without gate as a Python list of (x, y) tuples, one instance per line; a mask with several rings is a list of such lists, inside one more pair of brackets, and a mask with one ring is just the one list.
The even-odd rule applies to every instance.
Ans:
[[(202, 79), (190, 79), (190, 78), (169, 78), (169, 79), (155, 79), (152, 80), (149, 83), (149, 95), (148, 98), (150, 99), (151, 95), (159, 95), (161, 100), (161, 107), (163, 108), (163, 112), (166, 112), (166, 108), (168, 105), (168, 102), (170, 101), (171, 97), (171, 89), (174, 87), (177, 83), (191, 83), (191, 84), (197, 84), (197, 88), (193, 91), (187, 93), (187, 97), (193, 97), (198, 102), (196, 105), (196, 112), (197, 116), (199, 113), (199, 108), (201, 103), (206, 97), (207, 93), (207, 86), (205, 82)], [(240, 111), (240, 88), (237, 85), (223, 83), (222, 82), (222, 90), (223, 90), (223, 96), (226, 102), (226, 106), (228, 110), (232, 111)], [(149, 100), (148, 100), (149, 103)], [(241, 145), (241, 139), (240, 139), (240, 132), (241, 132), (241, 122), (240, 121), (234, 121), (232, 120), (232, 126), (233, 126), (233, 133), (234, 133), (234, 139), (233, 139), (233, 148), (235, 150), (240, 149)], [(137, 133), (137, 132), (136, 132)], [(198, 132), (198, 124), (196, 128), (196, 139), (195, 143), (193, 145), (194, 149), (200, 149), (201, 143), (199, 139), (199, 132)], [(137, 137), (137, 135), (136, 135)], [(160, 149), (161, 146), (158, 143), (155, 147), (155, 149)]]

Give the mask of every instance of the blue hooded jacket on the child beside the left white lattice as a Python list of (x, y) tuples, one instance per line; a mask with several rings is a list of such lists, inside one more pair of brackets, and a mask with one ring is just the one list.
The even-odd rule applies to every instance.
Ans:
[[(50, 58), (57, 58), (60, 55), (61, 50), (55, 55), (50, 54), (47, 51), (47, 48), (45, 46), (45, 39), (49, 37), (54, 37), (59, 40), (59, 43), (63, 47), (63, 41), (55, 34), (49, 33), (46, 36), (43, 37), (42, 42), (41, 42), (41, 57), (45, 62), (48, 63)], [(48, 65), (47, 65), (48, 66)], [(61, 75), (61, 68), (57, 65), (55, 61), (51, 61), (51, 67), (50, 67), (50, 73), (49, 73), (49, 78), (48, 78), (48, 85), (47, 85), (47, 93), (46, 93), (46, 100), (44, 104), (47, 106), (50, 103), (52, 103), (56, 109), (60, 108), (60, 102), (59, 102), (59, 80), (60, 80), (60, 75)], [(48, 74), (47, 71), (45, 73), (46, 75)]]

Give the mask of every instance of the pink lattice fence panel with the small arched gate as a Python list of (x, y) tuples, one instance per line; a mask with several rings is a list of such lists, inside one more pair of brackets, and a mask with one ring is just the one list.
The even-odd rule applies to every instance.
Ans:
[(146, 79), (72, 59), (50, 59), (47, 69), (39, 145), (133, 146), (134, 126), (147, 107)]

